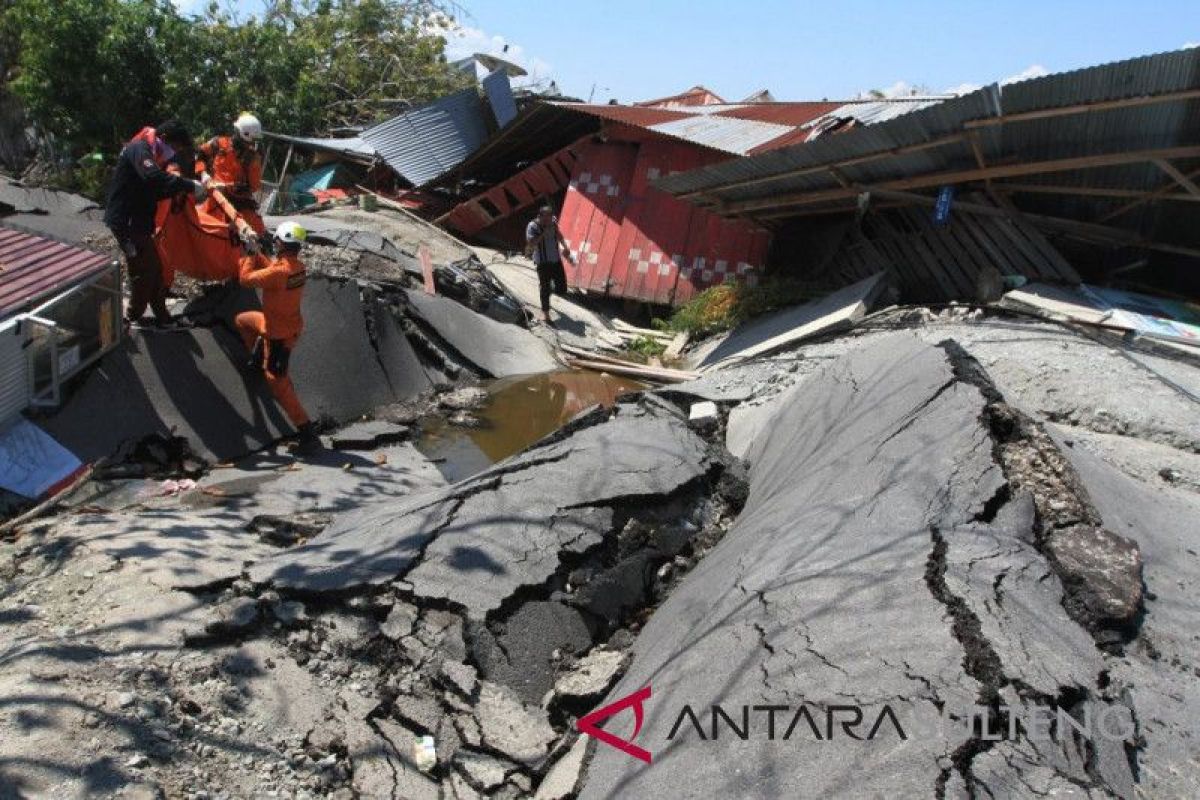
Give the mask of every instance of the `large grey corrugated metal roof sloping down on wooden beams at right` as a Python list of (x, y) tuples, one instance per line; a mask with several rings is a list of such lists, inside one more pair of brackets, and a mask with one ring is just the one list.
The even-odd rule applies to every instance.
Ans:
[[(926, 103), (924, 98), (847, 103), (847, 108), (832, 112), (811, 127), (818, 130), (839, 115), (853, 116), (864, 124), (862, 127), (856, 126), (838, 136), (809, 137), (803, 143), (797, 143), (800, 137), (793, 134), (791, 146), (664, 178), (656, 186), (674, 194), (704, 193), (722, 203), (760, 199), (767, 203), (779, 196), (836, 191), (841, 184), (835, 176), (824, 169), (816, 169), (824, 164), (838, 164), (842, 180), (860, 186), (913, 175), (971, 170), (977, 167), (977, 158), (970, 142), (961, 138), (950, 140), (968, 127), (988, 164), (1196, 144), (1200, 142), (1200, 98), (1025, 121), (1018, 119), (1003, 125), (985, 122), (980, 126), (978, 121), (1058, 107), (1164, 95), (1198, 86), (1200, 50), (1192, 49), (1006, 86), (992, 84), (958, 98), (925, 104), (924, 108), (911, 108)], [(968, 122), (972, 125), (968, 126)], [(1026, 179), (1025, 182), (1033, 180)], [(1165, 175), (1146, 163), (1055, 173), (1038, 180), (1057, 185), (1117, 185), (1151, 190), (1163, 186)], [(1120, 201), (1044, 194), (1027, 199), (1039, 210), (1051, 206), (1072, 209), (1070, 216), (1091, 219)], [(1156, 212), (1144, 209), (1138, 213)]]

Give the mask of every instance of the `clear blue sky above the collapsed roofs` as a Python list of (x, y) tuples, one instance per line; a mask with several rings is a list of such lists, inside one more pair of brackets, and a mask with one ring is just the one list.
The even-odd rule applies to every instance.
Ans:
[[(242, 7), (258, 6), (240, 0)], [(196, 0), (178, 5), (198, 6)], [(1200, 43), (1200, 0), (461, 0), (452, 55), (508, 55), (596, 102), (968, 89)]]

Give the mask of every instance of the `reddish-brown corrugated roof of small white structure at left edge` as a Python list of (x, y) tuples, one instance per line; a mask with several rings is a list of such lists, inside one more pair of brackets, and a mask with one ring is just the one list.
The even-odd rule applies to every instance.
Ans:
[(113, 263), (107, 255), (0, 225), (0, 318)]

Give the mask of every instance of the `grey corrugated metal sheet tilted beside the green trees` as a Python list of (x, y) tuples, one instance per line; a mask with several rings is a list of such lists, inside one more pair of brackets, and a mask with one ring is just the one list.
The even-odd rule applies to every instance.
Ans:
[(487, 136), (482, 104), (473, 88), (362, 132), (362, 139), (384, 162), (414, 186), (424, 186), (454, 169)]

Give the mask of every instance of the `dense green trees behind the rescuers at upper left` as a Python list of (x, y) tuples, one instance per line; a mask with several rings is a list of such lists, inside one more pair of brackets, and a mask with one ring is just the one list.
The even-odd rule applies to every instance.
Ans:
[(73, 155), (113, 152), (175, 116), (198, 137), (252, 110), (268, 130), (371, 122), (468, 85), (433, 23), (438, 0), (275, 0), (245, 19), (210, 2), (0, 0), (16, 31), (12, 90)]

